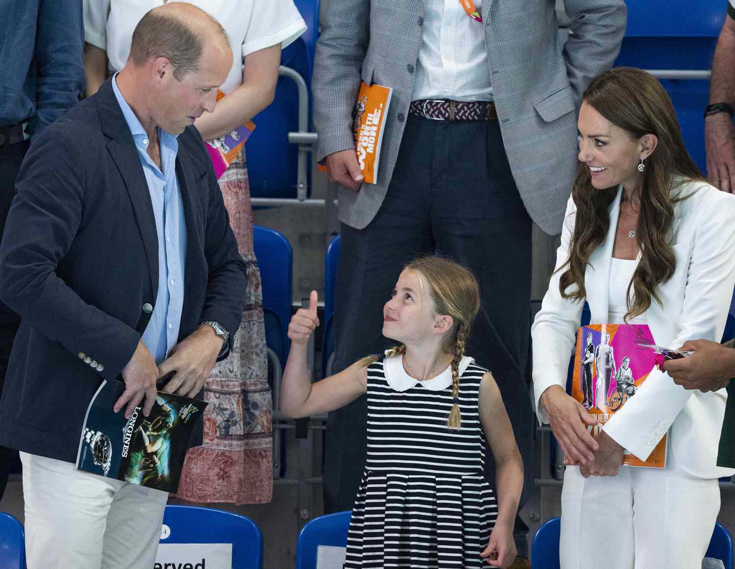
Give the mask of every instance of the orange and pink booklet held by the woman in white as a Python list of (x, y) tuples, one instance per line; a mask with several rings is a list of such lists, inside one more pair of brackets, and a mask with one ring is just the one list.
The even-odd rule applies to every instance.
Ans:
[[(590, 324), (577, 330), (571, 395), (595, 416), (600, 428), (636, 394), (656, 366), (655, 344), (645, 324)], [(661, 438), (647, 460), (625, 450), (623, 465), (666, 467), (667, 435)]]

